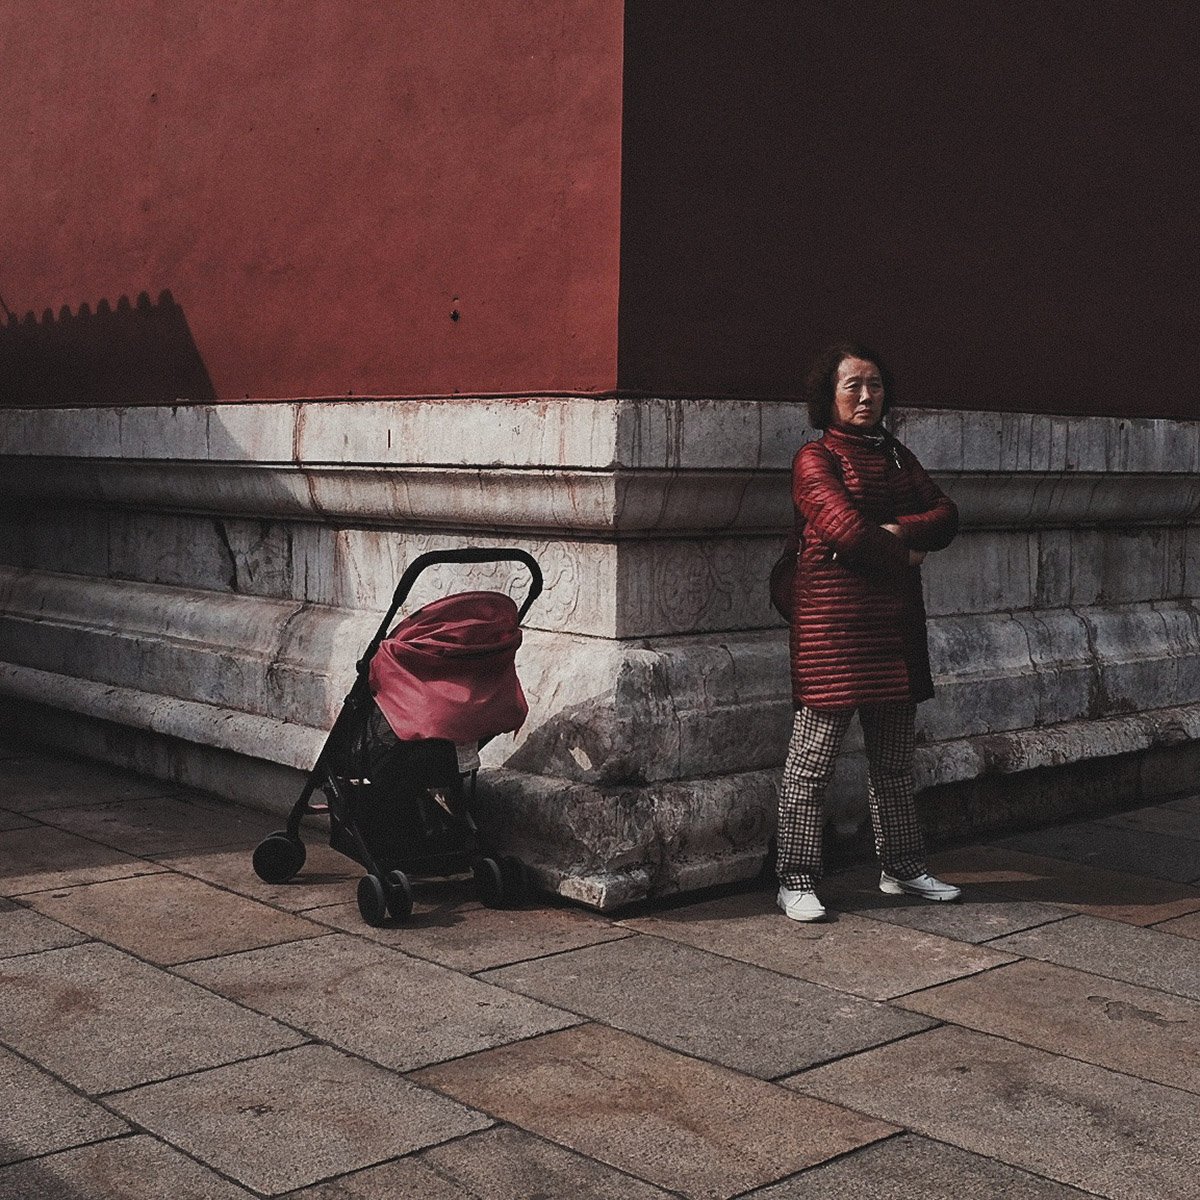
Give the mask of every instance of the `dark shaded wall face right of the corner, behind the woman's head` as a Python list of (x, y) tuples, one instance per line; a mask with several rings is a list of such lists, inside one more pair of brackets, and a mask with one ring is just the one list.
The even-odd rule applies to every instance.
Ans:
[(623, 389), (1196, 414), (1200, 7), (626, 5)]

